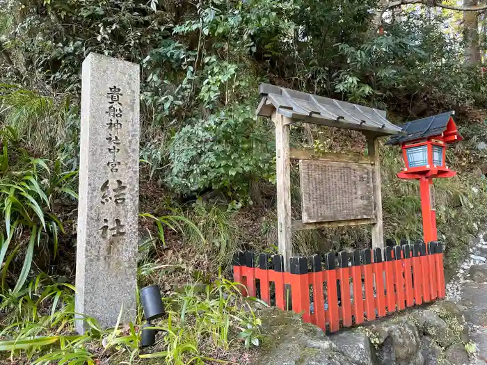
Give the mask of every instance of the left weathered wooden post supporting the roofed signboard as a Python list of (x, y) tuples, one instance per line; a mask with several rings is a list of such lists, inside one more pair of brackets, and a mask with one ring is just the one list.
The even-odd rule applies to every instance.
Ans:
[(289, 272), (292, 257), (291, 228), (291, 160), (289, 157), (290, 118), (272, 113), (276, 125), (276, 177), (278, 190), (278, 245), (284, 258), (285, 271)]

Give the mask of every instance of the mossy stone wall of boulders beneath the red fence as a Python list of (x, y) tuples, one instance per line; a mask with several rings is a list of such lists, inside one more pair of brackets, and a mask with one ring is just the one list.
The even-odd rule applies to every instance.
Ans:
[(453, 302), (437, 302), (327, 336), (292, 311), (262, 310), (254, 365), (463, 365), (468, 325)]

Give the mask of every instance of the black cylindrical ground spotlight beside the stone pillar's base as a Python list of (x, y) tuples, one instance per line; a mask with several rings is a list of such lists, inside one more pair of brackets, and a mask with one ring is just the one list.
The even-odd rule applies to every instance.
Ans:
[(151, 321), (161, 318), (166, 311), (161, 298), (161, 289), (157, 285), (145, 286), (141, 289), (141, 302), (147, 323), (142, 327), (141, 347), (154, 346), (157, 330)]

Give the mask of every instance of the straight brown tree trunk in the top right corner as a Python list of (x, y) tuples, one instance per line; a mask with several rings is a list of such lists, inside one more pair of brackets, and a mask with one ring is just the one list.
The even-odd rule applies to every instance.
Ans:
[[(476, 5), (479, 5), (479, 0), (463, 0), (463, 6)], [(465, 63), (467, 65), (478, 65), (481, 58), (477, 12), (465, 11), (463, 13), (463, 40), (465, 41)]]

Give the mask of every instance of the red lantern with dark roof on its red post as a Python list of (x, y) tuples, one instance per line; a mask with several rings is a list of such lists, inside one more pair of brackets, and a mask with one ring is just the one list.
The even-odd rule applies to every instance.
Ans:
[(405, 167), (397, 177), (420, 181), (424, 242), (437, 241), (433, 179), (456, 175), (445, 161), (447, 144), (463, 139), (454, 114), (449, 111), (402, 124), (399, 126), (402, 135), (390, 138), (387, 143), (402, 148)]

